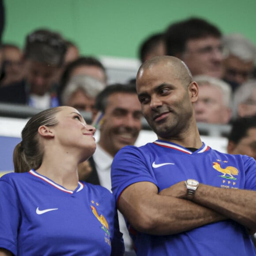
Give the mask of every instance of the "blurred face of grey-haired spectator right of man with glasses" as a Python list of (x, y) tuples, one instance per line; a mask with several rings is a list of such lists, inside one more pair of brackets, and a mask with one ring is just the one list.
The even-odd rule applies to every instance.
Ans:
[(253, 68), (253, 61), (245, 62), (230, 55), (223, 60), (223, 78), (228, 82), (241, 84), (252, 76)]

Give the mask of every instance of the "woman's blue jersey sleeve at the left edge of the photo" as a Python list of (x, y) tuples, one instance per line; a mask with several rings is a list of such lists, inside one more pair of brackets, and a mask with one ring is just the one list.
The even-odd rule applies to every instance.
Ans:
[(0, 248), (5, 248), (16, 255), (19, 200), (14, 186), (4, 176), (0, 179)]

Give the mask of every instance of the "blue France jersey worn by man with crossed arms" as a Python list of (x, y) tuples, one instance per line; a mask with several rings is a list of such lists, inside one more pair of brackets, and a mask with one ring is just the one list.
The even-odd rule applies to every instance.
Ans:
[[(116, 200), (126, 187), (141, 181), (154, 183), (159, 191), (187, 179), (218, 188), (256, 190), (256, 161), (248, 156), (220, 153), (204, 143), (192, 152), (157, 140), (142, 147), (122, 148), (113, 160), (111, 179)], [(137, 255), (256, 255), (247, 230), (233, 220), (169, 236), (147, 235), (127, 224)]]

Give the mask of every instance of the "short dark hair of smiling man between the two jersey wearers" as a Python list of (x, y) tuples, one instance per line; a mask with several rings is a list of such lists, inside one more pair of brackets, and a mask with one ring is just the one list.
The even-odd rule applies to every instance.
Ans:
[(136, 86), (134, 84), (115, 83), (105, 87), (105, 89), (97, 95), (95, 99), (95, 109), (105, 113), (105, 109), (108, 105), (108, 98), (114, 93), (128, 93), (137, 95)]

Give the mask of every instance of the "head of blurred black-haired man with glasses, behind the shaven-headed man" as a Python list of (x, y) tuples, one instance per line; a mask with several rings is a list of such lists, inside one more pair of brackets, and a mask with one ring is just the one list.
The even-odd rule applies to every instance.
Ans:
[(222, 78), (222, 33), (204, 19), (192, 17), (170, 24), (166, 55), (184, 61), (192, 75)]

